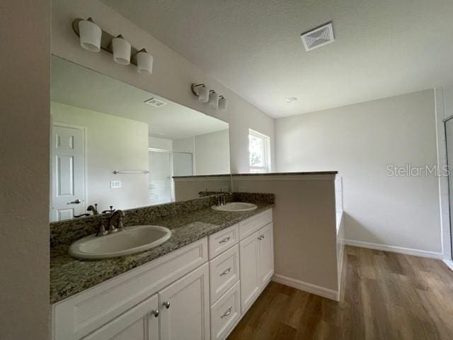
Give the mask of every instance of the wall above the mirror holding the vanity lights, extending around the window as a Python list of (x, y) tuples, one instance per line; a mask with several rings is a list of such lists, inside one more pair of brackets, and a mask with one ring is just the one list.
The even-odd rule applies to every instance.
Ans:
[[(71, 23), (74, 18), (93, 17), (101, 28), (113, 35), (122, 34), (136, 47), (146, 47), (154, 57), (151, 77), (137, 74), (133, 66), (113, 62), (107, 52), (93, 54), (82, 49)], [(270, 136), (274, 147), (274, 120), (236, 95), (209, 74), (170, 50), (134, 23), (97, 0), (59, 0), (52, 6), (52, 54), (137, 86), (158, 96), (193, 108), (229, 123), (231, 172), (248, 172), (248, 128)], [(221, 112), (200, 103), (190, 91), (190, 84), (203, 82), (228, 99), (228, 109)], [(274, 154), (274, 152), (272, 152)], [(274, 164), (274, 162), (273, 162)]]

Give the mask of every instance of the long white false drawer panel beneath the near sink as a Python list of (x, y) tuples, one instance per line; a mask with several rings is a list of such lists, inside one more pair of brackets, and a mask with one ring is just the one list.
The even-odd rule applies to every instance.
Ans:
[(205, 262), (206, 237), (58, 302), (54, 339), (81, 339)]

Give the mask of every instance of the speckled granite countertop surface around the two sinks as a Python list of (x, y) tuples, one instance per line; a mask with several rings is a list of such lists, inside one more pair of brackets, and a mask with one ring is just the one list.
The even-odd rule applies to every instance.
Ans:
[(203, 208), (184, 215), (156, 220), (153, 222), (154, 225), (171, 229), (170, 239), (153, 249), (130, 256), (84, 261), (69, 256), (67, 244), (54, 246), (50, 249), (50, 303), (80, 293), (273, 207), (270, 203), (255, 204), (258, 208), (251, 212), (219, 212)]

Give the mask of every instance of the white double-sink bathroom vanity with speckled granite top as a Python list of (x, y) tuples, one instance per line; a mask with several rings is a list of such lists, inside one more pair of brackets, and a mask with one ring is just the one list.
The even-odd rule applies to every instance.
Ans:
[[(51, 299), (58, 300), (52, 339), (225, 339), (273, 276), (272, 212), (270, 204), (253, 212), (190, 212), (193, 218), (180, 217), (185, 222), (166, 244), (136, 255), (137, 263), (147, 256), (151, 261), (129, 271), (137, 264), (134, 255), (79, 261), (60, 254), (64, 259), (55, 259), (51, 273)], [(202, 215), (222, 222), (194, 227), (192, 220)], [(178, 217), (165, 220), (172, 224)], [(125, 272), (113, 275), (118, 267)], [(62, 278), (69, 268), (78, 272)], [(81, 288), (96, 275), (112, 277)], [(72, 279), (81, 281), (79, 287)]]

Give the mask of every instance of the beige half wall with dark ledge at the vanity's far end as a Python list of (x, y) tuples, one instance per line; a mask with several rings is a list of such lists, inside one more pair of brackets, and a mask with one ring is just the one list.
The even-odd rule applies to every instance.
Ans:
[(336, 299), (335, 175), (233, 176), (234, 191), (275, 194), (275, 280)]

